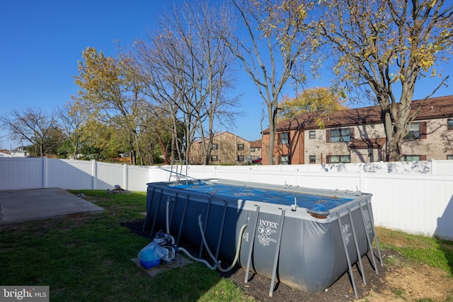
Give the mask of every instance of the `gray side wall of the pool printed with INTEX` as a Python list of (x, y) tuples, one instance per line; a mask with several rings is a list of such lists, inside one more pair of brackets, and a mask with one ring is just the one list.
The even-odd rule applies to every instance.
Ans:
[[(202, 237), (198, 226), (198, 216), (202, 214), (203, 228), (210, 250), (222, 262), (230, 263), (234, 260), (239, 231), (244, 224), (247, 224), (241, 240), (239, 265), (246, 267), (248, 252), (254, 237), (250, 269), (252, 272), (271, 278), (278, 234), (283, 225), (280, 251), (277, 256), (276, 279), (294, 289), (311, 294), (327, 289), (348, 270), (344, 243), (352, 264), (359, 260), (355, 238), (357, 238), (360, 257), (369, 250), (367, 233), (372, 240), (373, 231), (371, 228), (372, 213), (369, 212), (367, 203), (369, 204), (371, 201), (371, 194), (233, 180), (203, 181), (241, 187), (246, 185), (253, 188), (285, 190), (288, 194), (303, 192), (319, 195), (320, 199), (328, 196), (352, 200), (331, 209), (325, 219), (319, 219), (311, 216), (303, 207), (297, 207), (294, 210), (294, 208), (282, 204), (247, 199), (226, 199), (217, 194), (176, 190), (175, 187), (180, 182), (151, 182), (147, 184), (147, 219), (145, 222), (147, 229), (151, 228), (151, 232), (154, 233), (159, 230), (165, 231), (166, 203), (171, 199), (168, 204), (169, 228), (173, 237), (178, 241), (191, 243), (195, 247), (200, 246), (200, 250), (202, 250)], [(197, 180), (190, 181), (190, 183), (196, 185)], [(362, 208), (363, 215), (360, 208)], [(281, 219), (282, 211), (285, 212), (283, 221)], [(338, 216), (341, 226), (338, 223)], [(255, 221), (257, 221), (256, 231), (252, 233)], [(352, 236), (352, 224), (355, 227), (355, 236)]]

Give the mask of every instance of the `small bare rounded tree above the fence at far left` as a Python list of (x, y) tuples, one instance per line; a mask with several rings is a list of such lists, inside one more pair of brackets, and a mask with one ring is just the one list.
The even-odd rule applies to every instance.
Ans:
[(58, 130), (55, 115), (49, 115), (40, 108), (12, 110), (0, 116), (0, 124), (8, 130), (9, 139), (21, 144), (28, 142), (33, 153), (41, 157), (49, 154), (62, 142), (55, 141)]

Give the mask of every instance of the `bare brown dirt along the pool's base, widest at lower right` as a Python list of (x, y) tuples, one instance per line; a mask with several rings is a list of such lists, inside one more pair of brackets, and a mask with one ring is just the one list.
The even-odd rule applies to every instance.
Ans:
[[(143, 221), (131, 221), (122, 226), (130, 228), (132, 233), (149, 237), (148, 233), (142, 232)], [(190, 250), (192, 247), (185, 248)], [(197, 248), (193, 255), (196, 254)], [(445, 301), (453, 297), (453, 279), (447, 272), (425, 265), (408, 264), (401, 255), (391, 250), (382, 251), (382, 258), (384, 267), (378, 264), (379, 274), (374, 271), (370, 253), (362, 258), (367, 285), (363, 284), (359, 264), (352, 268), (359, 301)], [(266, 277), (250, 272), (246, 283), (246, 272), (242, 267), (220, 274), (257, 301), (357, 301), (348, 272), (320, 294), (308, 294), (275, 281), (272, 297), (269, 296), (271, 281)]]

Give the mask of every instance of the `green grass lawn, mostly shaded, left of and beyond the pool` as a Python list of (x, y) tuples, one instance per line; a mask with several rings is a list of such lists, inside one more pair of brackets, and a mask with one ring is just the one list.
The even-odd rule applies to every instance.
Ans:
[[(146, 193), (83, 192), (103, 214), (0, 227), (1, 285), (47, 285), (51, 301), (253, 301), (199, 263), (149, 277), (131, 261), (149, 238), (120, 225), (144, 218)], [(387, 230), (379, 236), (383, 250), (453, 274), (451, 241)]]

